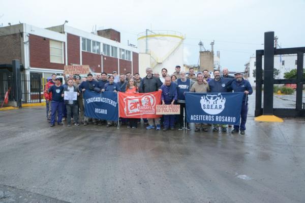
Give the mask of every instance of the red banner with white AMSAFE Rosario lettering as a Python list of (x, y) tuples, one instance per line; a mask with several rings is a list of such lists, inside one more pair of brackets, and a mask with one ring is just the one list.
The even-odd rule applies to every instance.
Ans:
[(156, 115), (156, 105), (161, 104), (161, 91), (151, 93), (118, 92), (118, 115), (121, 118), (160, 118)]

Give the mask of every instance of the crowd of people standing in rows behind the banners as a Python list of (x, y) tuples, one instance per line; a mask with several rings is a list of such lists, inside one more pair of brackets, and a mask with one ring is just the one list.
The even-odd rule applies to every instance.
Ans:
[[(186, 115), (186, 92), (196, 93), (227, 93), (227, 92), (243, 92), (243, 101), (241, 107), (240, 124), (234, 125), (231, 133), (245, 134), (247, 112), (248, 112), (248, 95), (252, 94), (252, 88), (249, 81), (242, 77), (242, 73), (236, 72), (234, 77), (228, 74), (228, 69), (223, 69), (222, 75), (219, 70), (214, 70), (214, 78), (210, 77), (209, 71), (204, 70), (202, 73), (195, 75), (194, 68), (189, 69), (189, 74), (181, 70), (180, 66), (175, 67), (175, 72), (168, 74), (167, 69), (161, 70), (161, 75), (158, 72), (153, 73), (153, 69), (146, 68), (146, 76), (141, 78), (139, 73), (132, 75), (130, 72), (125, 74), (117, 74), (113, 71), (112, 74), (102, 72), (93, 76), (87, 74), (87, 77), (64, 75), (64, 81), (53, 74), (48, 78), (45, 85), (44, 97), (46, 99), (47, 111), (46, 117), (49, 120), (50, 126), (53, 127), (55, 122), (58, 125), (63, 125), (66, 121), (67, 126), (73, 124), (88, 125), (103, 125), (106, 127), (117, 126), (117, 122), (104, 121), (95, 118), (88, 118), (84, 115), (83, 93), (84, 91), (95, 92), (125, 92), (125, 93), (149, 93), (162, 91), (161, 102), (163, 105), (178, 104), (180, 106), (180, 114), (163, 115), (161, 119), (142, 119), (147, 125), (146, 129), (163, 131), (174, 130), (175, 126), (178, 130), (191, 130), (187, 122)], [(77, 100), (64, 100), (64, 92), (77, 92)], [(120, 118), (122, 125), (127, 125), (127, 128), (137, 128), (141, 123), (141, 119), (125, 119)], [(207, 132), (207, 126), (212, 126), (212, 131), (217, 132), (221, 128), (222, 132), (227, 132), (227, 125), (196, 123), (195, 132), (200, 130)]]

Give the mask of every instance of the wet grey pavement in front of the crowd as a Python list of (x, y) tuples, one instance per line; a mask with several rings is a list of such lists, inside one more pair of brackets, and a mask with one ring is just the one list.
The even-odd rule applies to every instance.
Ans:
[(0, 202), (305, 202), (304, 124), (50, 128), (44, 107), (0, 111)]

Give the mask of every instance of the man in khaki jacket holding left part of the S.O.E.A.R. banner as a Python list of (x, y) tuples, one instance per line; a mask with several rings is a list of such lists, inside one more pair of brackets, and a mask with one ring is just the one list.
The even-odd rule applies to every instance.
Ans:
[[(197, 82), (193, 84), (190, 92), (206, 93), (208, 91), (209, 91), (209, 85), (207, 81), (203, 79), (202, 73), (198, 73)], [(200, 128), (202, 128), (204, 132), (207, 132), (207, 128), (203, 123), (195, 123), (195, 132), (199, 132)]]

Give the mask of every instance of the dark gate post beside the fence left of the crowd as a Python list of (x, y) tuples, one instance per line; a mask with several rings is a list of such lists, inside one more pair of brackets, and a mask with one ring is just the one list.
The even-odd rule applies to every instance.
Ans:
[(21, 81), (20, 81), (20, 62), (13, 60), (13, 82), (14, 82), (14, 97), (17, 107), (21, 107)]

